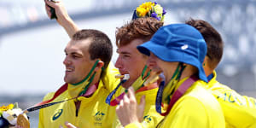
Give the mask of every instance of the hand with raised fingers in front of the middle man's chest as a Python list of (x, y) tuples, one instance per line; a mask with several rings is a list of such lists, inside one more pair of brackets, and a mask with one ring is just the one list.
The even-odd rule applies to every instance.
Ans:
[(145, 96), (141, 98), (141, 103), (137, 105), (133, 88), (128, 89), (128, 95), (125, 94), (124, 99), (120, 101), (116, 108), (116, 113), (120, 123), (125, 126), (131, 123), (142, 122), (145, 106)]

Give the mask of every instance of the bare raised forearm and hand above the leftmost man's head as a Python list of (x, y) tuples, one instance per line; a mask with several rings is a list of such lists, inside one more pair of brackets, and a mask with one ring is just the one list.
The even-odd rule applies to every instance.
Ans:
[(45, 9), (47, 15), (50, 17), (50, 7), (55, 9), (55, 14), (57, 16), (57, 22), (65, 29), (69, 38), (72, 38), (75, 32), (79, 31), (79, 27), (73, 22), (73, 20), (67, 14), (67, 9), (65, 9), (64, 4), (61, 0), (57, 2), (51, 2), (48, 0), (44, 0)]

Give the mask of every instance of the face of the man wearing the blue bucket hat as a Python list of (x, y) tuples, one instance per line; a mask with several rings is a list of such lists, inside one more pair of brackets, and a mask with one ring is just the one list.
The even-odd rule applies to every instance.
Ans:
[(169, 82), (172, 79), (172, 75), (175, 72), (178, 62), (162, 61), (152, 52), (148, 57), (147, 65), (155, 72), (162, 71), (165, 75), (165, 81)]

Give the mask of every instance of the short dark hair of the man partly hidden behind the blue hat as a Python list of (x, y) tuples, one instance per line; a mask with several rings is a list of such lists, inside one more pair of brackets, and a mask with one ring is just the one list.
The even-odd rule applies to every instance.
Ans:
[(205, 20), (190, 19), (186, 21), (186, 24), (194, 26), (201, 32), (207, 43), (207, 56), (211, 61), (210, 67), (212, 69), (216, 68), (219, 61), (221, 61), (224, 51), (224, 43), (218, 31)]

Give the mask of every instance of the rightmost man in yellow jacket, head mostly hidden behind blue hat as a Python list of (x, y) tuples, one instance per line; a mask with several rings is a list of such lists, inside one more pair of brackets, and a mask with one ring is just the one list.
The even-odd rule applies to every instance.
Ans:
[(194, 26), (206, 40), (207, 56), (203, 67), (208, 76), (207, 89), (212, 92), (224, 112), (227, 128), (253, 128), (256, 127), (256, 100), (252, 97), (241, 96), (228, 86), (220, 84), (214, 69), (218, 66), (223, 55), (224, 43), (217, 30), (207, 21), (188, 20), (190, 26)]

